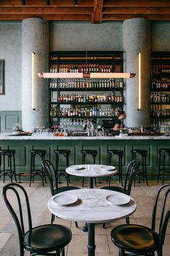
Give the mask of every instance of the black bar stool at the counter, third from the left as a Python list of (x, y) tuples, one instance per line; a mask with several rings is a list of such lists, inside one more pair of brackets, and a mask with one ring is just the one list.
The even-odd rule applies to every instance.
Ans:
[[(64, 176), (67, 180), (67, 186), (68, 182), (70, 182), (70, 177), (66, 173), (66, 168), (69, 166), (69, 155), (71, 153), (71, 150), (54, 150), (55, 153), (55, 170), (57, 171), (58, 178), (60, 179), (61, 176)], [(63, 155), (66, 158), (66, 168), (59, 169), (59, 157), (60, 155)]]

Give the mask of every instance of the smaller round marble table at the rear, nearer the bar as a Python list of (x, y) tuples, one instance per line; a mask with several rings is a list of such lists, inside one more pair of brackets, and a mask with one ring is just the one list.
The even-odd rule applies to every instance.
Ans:
[(69, 166), (66, 173), (73, 176), (89, 177), (89, 188), (93, 188), (93, 178), (111, 176), (117, 173), (115, 166), (105, 166), (103, 164), (81, 164)]

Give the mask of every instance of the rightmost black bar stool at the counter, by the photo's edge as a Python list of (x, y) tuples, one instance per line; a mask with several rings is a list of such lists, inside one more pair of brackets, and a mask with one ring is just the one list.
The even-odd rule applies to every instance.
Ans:
[(162, 172), (162, 175), (163, 175), (162, 184), (164, 184), (165, 172), (167, 170), (167, 168), (165, 168), (165, 161), (166, 161), (166, 156), (168, 156), (169, 160), (170, 160), (170, 148), (159, 148), (158, 156), (159, 156), (159, 158), (158, 158), (158, 179), (157, 179), (157, 182), (158, 182), (159, 176)]

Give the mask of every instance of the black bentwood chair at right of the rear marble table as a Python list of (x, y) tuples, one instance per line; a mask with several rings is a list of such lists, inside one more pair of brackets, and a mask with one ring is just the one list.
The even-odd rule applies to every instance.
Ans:
[[(108, 186), (108, 187), (101, 187), (101, 189), (113, 190), (113, 191), (121, 192), (126, 195), (130, 195), (133, 180), (135, 179), (135, 176), (138, 173), (139, 165), (140, 163), (137, 160), (133, 160), (128, 164), (126, 169), (126, 174), (125, 174), (124, 187)], [(129, 217), (126, 218), (126, 223), (130, 223)], [(103, 227), (104, 226), (105, 225), (103, 225)]]

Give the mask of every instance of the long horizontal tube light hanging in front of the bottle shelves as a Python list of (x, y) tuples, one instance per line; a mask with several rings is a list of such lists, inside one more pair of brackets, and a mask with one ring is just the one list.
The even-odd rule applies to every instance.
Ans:
[(39, 72), (37, 73), (40, 78), (133, 78), (135, 77), (135, 73), (118, 73), (118, 72), (110, 72), (110, 73), (61, 73), (61, 72)]

